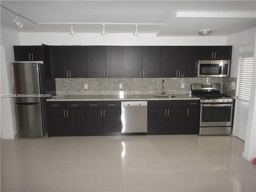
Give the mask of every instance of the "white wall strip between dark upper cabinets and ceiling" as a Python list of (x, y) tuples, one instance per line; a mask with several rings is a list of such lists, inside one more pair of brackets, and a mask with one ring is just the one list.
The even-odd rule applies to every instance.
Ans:
[(20, 33), (21, 45), (225, 45), (224, 36), (156, 37), (155, 34)]

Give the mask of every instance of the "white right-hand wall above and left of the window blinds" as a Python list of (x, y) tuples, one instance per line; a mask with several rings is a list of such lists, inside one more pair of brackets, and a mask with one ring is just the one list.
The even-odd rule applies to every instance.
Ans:
[(240, 47), (244, 45), (254, 45), (255, 30), (256, 28), (252, 28), (226, 37), (226, 45), (233, 46), (230, 77), (238, 77)]

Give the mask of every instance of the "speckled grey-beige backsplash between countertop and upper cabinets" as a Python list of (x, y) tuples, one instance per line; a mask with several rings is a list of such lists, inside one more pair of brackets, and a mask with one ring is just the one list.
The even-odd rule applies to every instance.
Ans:
[[(164, 80), (167, 94), (189, 94), (192, 83), (221, 83), (223, 92), (235, 94), (236, 78), (56, 78), (57, 95), (160, 94)], [(182, 87), (184, 83), (184, 88)], [(84, 84), (88, 89), (84, 89)], [(119, 88), (122, 84), (122, 89)]]

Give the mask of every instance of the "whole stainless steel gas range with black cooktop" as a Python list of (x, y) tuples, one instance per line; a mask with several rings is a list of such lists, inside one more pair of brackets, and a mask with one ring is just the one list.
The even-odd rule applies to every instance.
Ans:
[(220, 83), (191, 84), (201, 98), (199, 135), (231, 134), (233, 99), (220, 93)]

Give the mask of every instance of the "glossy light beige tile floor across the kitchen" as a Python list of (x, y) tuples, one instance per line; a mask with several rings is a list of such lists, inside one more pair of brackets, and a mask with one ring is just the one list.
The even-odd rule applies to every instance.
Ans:
[(234, 136), (1, 140), (1, 191), (256, 191)]

